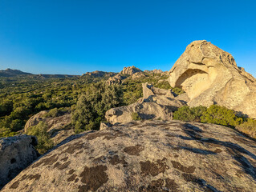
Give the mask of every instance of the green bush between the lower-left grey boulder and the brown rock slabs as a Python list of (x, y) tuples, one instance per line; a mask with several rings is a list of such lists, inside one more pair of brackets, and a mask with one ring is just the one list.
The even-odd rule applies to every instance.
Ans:
[(39, 150), (40, 154), (44, 154), (53, 147), (51, 135), (47, 133), (45, 122), (39, 122), (37, 126), (31, 126), (26, 134), (34, 135), (38, 139), (39, 144), (36, 146), (36, 149)]

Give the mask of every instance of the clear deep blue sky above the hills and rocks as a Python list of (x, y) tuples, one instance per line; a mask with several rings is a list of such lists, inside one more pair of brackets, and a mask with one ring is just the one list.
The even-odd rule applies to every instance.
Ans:
[(0, 69), (170, 70), (202, 39), (256, 77), (255, 1), (0, 0)]

